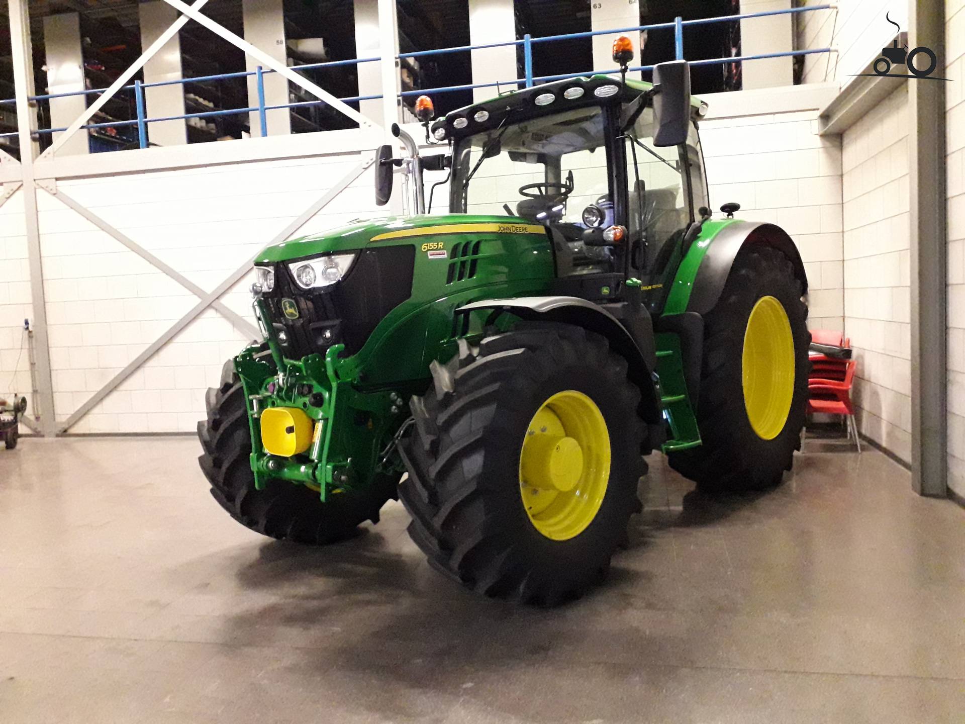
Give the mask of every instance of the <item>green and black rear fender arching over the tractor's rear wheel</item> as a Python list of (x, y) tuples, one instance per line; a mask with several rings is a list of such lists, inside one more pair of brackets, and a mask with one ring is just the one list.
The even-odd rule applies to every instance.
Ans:
[(704, 315), (713, 309), (724, 291), (733, 260), (747, 244), (763, 244), (783, 252), (794, 265), (802, 293), (808, 292), (808, 276), (801, 254), (784, 229), (754, 221), (712, 221), (703, 225), (701, 236), (691, 244), (677, 268), (663, 314)]

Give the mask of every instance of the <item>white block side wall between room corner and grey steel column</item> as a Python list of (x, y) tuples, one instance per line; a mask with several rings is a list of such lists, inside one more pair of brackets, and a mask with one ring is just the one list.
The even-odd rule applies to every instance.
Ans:
[(859, 428), (911, 459), (907, 86), (842, 141), (844, 331), (858, 360)]

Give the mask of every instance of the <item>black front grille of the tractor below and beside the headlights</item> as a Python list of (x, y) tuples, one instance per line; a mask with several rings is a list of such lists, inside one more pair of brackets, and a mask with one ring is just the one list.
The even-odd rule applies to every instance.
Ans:
[[(284, 354), (297, 359), (338, 344), (345, 345), (345, 355), (357, 352), (375, 325), (412, 295), (414, 265), (414, 246), (367, 249), (342, 281), (315, 290), (295, 284), (289, 263), (277, 265), (275, 289), (265, 301)], [(286, 299), (297, 309), (294, 320), (284, 313)]]

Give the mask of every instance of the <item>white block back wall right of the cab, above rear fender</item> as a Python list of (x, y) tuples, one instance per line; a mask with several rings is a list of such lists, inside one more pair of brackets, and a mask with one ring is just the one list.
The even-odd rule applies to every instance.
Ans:
[(710, 204), (735, 201), (737, 215), (782, 227), (808, 272), (809, 325), (840, 329), (841, 144), (817, 135), (814, 111), (705, 121)]

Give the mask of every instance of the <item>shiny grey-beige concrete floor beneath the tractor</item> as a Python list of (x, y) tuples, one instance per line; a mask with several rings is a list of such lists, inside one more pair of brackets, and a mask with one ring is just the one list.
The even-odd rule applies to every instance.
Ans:
[(965, 511), (876, 452), (706, 499), (659, 459), (608, 583), (558, 610), (431, 571), (399, 504), (276, 543), (187, 438), (0, 450), (0, 721), (961, 722)]

